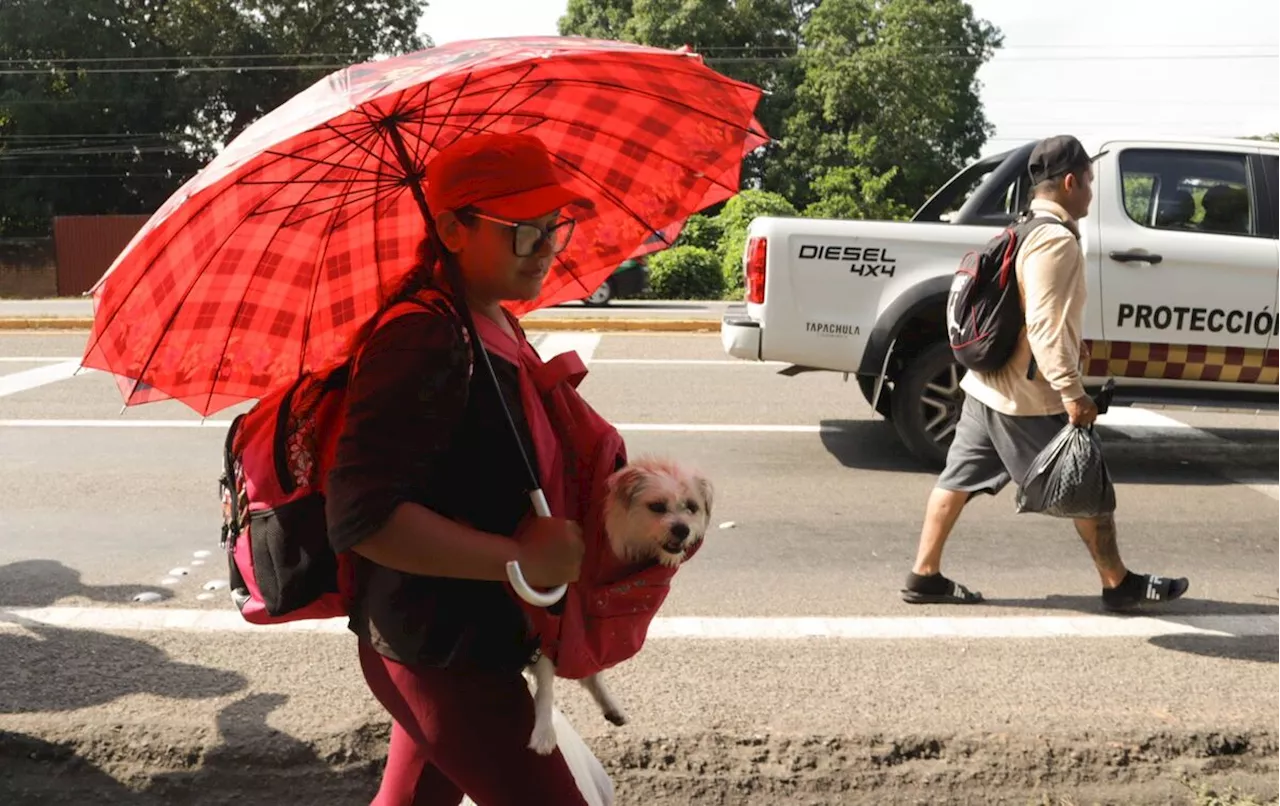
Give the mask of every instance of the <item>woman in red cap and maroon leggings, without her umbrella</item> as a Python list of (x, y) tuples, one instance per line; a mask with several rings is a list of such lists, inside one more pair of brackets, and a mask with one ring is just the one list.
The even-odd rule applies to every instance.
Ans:
[[(456, 262), (481, 338), (515, 342), (502, 303), (538, 297), (573, 229), (562, 211), (581, 200), (525, 134), (457, 141), (428, 165), (426, 193), (436, 237), (392, 298), (404, 312), (358, 348), (329, 477), (333, 548), (360, 557), (361, 667), (396, 720), (376, 802), (453, 806), (465, 792), (483, 806), (585, 803), (558, 752), (527, 750), (522, 669), (538, 642), (503, 587), (511, 560), (535, 586), (575, 581), (580, 531), (531, 514), (524, 461), (494, 385), (471, 374), (481, 345), (468, 344), (444, 271)], [(553, 466), (535, 448), (518, 367), (500, 351), (490, 361), (526, 455)]]

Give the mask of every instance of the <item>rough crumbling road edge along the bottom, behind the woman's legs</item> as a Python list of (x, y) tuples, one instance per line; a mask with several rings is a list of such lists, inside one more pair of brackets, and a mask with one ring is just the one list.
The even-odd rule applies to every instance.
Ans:
[[(224, 803), (234, 796), (266, 802), (264, 794), (274, 796), (273, 802), (367, 803), (385, 764), (388, 734), (387, 720), (307, 738), (252, 728), (233, 737), (207, 728), (179, 734), (138, 724), (0, 729), (0, 764), (8, 775), (0, 778), (0, 796), (27, 798), (4, 800), (10, 803), (70, 802), (69, 791), (92, 793), (95, 803), (148, 806)], [(1091, 802), (1170, 802), (1169, 787), (1179, 774), (1267, 797), (1277, 769), (1276, 739), (1266, 732), (1117, 732), (1101, 738), (691, 733), (586, 743), (625, 802), (658, 806), (828, 802), (820, 798), (833, 792), (861, 792), (877, 802), (1029, 802), (1057, 788)], [(210, 793), (214, 798), (205, 800)]]

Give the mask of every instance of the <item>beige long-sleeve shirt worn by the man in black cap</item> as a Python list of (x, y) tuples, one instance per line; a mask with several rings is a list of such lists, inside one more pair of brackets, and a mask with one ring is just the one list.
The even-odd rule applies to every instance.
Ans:
[[(960, 381), (965, 394), (1014, 416), (1057, 415), (1066, 411), (1066, 400), (1084, 395), (1080, 352), (1088, 287), (1079, 230), (1061, 205), (1038, 198), (1030, 209), (1062, 225), (1037, 228), (1018, 252), (1027, 325), (1009, 363), (995, 372), (969, 371)], [(1032, 357), (1036, 374), (1028, 379)]]

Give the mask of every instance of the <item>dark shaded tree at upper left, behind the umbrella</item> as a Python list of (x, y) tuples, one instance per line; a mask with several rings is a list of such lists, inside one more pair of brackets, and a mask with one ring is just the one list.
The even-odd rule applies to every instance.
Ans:
[(150, 214), (323, 75), (424, 46), (421, 0), (0, 3), (0, 235)]

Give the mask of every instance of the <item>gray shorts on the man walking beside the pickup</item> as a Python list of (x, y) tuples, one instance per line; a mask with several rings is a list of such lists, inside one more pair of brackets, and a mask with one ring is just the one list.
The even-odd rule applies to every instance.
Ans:
[(1002, 415), (965, 395), (960, 422), (938, 476), (943, 490), (996, 495), (1021, 482), (1032, 462), (1070, 420), (1066, 413), (1037, 417)]

